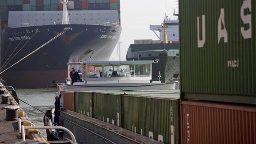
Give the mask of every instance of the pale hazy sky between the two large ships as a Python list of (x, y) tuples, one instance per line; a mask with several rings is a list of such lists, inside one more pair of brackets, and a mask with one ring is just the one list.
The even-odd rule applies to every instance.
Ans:
[[(120, 0), (122, 32), (119, 42), (121, 60), (125, 60), (126, 52), (134, 40), (159, 40), (155, 33), (149, 30), (149, 25), (160, 25), (165, 17), (173, 16), (173, 9), (178, 11), (177, 0)], [(157, 34), (159, 34), (157, 32)], [(117, 46), (110, 60), (119, 60)]]

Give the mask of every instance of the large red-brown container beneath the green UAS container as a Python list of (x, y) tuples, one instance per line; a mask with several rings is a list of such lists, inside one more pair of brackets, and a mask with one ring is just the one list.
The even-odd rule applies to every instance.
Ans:
[(256, 144), (256, 107), (181, 102), (182, 144)]

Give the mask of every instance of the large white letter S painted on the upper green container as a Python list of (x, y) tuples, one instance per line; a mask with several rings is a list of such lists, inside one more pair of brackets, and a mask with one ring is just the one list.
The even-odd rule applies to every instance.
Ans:
[(244, 9), (249, 9), (250, 12), (252, 12), (251, 8), (251, 0), (244, 0), (244, 3), (241, 7), (240, 14), (241, 19), (243, 20), (244, 24), (248, 24), (249, 28), (247, 30), (244, 29), (244, 27), (241, 28), (241, 33), (244, 39), (252, 38), (252, 15), (244, 15)]

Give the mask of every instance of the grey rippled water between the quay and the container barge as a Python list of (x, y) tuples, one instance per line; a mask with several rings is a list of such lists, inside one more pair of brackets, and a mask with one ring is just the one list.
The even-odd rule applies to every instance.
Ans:
[[(40, 109), (45, 112), (47, 109), (54, 107), (55, 96), (57, 89), (19, 89), (16, 90), (18, 98), (26, 103)], [(43, 118), (44, 113), (32, 108), (28, 104), (20, 101), (21, 108), (24, 109), (30, 120), (36, 126), (44, 126)], [(45, 130), (41, 130), (41, 133), (46, 137)]]

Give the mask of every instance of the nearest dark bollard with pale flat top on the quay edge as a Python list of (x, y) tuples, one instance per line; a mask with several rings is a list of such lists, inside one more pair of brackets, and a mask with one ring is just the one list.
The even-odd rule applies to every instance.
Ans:
[(18, 119), (18, 108), (20, 106), (18, 105), (8, 105), (5, 107), (2, 107), (1, 110), (6, 109), (6, 121), (12, 121)]

